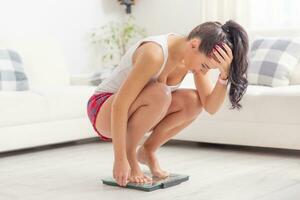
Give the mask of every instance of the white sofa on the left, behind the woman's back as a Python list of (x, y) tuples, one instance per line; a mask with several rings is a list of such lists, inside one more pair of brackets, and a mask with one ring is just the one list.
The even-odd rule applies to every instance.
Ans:
[(29, 91), (0, 91), (0, 152), (95, 137), (86, 114), (94, 87), (71, 85), (62, 48), (48, 36), (1, 37), (20, 53)]

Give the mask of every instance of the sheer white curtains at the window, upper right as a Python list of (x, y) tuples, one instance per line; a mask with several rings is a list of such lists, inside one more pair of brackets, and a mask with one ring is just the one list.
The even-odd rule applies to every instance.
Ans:
[(202, 20), (234, 19), (252, 31), (300, 31), (300, 0), (202, 0)]

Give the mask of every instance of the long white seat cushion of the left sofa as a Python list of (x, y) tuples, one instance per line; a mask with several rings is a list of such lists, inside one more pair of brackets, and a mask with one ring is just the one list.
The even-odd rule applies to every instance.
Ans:
[(33, 86), (0, 92), (0, 127), (87, 117), (94, 86)]

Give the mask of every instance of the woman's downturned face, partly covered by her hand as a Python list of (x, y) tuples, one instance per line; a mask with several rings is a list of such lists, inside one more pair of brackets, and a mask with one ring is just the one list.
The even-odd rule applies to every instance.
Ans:
[[(201, 45), (201, 40), (199, 38), (194, 38), (188, 41), (184, 56), (184, 63), (186, 67), (190, 70), (199, 70), (201, 68), (210, 70), (218, 68), (217, 66), (211, 66), (208, 62), (210, 58), (204, 53), (199, 52), (199, 45)], [(214, 55), (213, 58), (218, 61)]]

